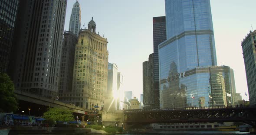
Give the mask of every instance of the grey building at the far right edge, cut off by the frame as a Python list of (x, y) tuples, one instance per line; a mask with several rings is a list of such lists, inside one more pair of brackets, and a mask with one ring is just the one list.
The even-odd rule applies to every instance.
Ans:
[(256, 30), (250, 31), (241, 43), (251, 105), (256, 104)]

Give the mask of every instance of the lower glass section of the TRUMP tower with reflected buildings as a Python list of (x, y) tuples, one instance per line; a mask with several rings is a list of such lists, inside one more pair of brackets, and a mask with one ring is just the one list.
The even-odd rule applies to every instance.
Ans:
[(228, 66), (204, 66), (178, 73), (172, 62), (160, 80), (160, 107), (231, 106), (232, 77)]

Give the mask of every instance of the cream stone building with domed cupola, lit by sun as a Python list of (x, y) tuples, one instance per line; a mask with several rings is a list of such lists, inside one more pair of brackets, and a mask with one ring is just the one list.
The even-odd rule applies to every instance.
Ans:
[(79, 32), (75, 45), (72, 92), (63, 93), (62, 101), (99, 110), (104, 108), (104, 95), (107, 92), (108, 41), (96, 34), (95, 29), (92, 18), (88, 29)]

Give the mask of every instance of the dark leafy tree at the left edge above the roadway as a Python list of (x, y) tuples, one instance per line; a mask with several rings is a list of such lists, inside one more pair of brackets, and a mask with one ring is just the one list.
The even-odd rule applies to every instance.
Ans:
[(17, 110), (18, 102), (13, 91), (13, 81), (7, 74), (0, 73), (0, 112), (14, 112)]

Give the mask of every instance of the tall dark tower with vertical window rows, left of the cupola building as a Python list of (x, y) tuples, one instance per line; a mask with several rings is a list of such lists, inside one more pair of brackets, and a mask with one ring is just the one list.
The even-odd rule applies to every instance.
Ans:
[(56, 97), (67, 0), (21, 0), (16, 32), (16, 90)]

